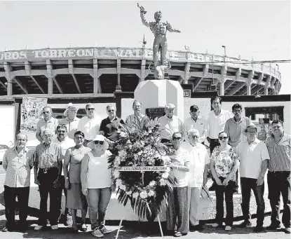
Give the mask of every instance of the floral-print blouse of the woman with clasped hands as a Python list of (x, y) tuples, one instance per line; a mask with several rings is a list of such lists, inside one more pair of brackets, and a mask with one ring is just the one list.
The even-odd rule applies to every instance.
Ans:
[[(232, 147), (227, 151), (219, 151), (219, 146), (213, 149), (211, 160), (215, 162), (215, 171), (218, 177), (227, 177), (234, 168), (235, 161), (240, 161), (236, 148)], [(230, 179), (236, 181), (236, 175)]]

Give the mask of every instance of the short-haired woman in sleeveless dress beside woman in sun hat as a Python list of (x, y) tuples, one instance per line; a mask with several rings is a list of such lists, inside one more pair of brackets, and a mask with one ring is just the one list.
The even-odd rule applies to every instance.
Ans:
[[(81, 191), (81, 161), (85, 156), (89, 148), (83, 146), (84, 134), (81, 131), (74, 133), (75, 146), (67, 149), (65, 154), (65, 160), (63, 165), (65, 176), (65, 188), (67, 189), (67, 205), (66, 207), (71, 209), (74, 231), (78, 231), (76, 225), (76, 211), (81, 210), (82, 227), (81, 231), (87, 231), (86, 226), (86, 214), (88, 205), (86, 197)], [(69, 166), (69, 172), (68, 172)]]

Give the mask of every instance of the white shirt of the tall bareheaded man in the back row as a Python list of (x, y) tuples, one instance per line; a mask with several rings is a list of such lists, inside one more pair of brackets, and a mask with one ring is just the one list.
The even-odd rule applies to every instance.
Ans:
[(218, 139), (219, 132), (224, 130), (226, 121), (232, 117), (234, 117), (233, 114), (228, 110), (221, 109), (218, 116), (215, 115), (214, 110), (210, 111), (206, 117), (205, 127), (208, 132), (208, 137), (210, 137), (210, 139)]

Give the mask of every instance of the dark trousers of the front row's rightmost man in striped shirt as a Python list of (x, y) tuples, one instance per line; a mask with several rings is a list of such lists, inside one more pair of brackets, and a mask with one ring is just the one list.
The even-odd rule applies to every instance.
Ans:
[(268, 172), (269, 200), (271, 205), (271, 224), (280, 225), (280, 194), (283, 198), (282, 223), (290, 227), (290, 172)]

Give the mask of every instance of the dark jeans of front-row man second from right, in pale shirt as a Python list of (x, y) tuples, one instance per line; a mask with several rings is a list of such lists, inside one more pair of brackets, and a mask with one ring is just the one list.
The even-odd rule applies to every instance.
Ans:
[(243, 219), (250, 221), (250, 191), (254, 192), (257, 203), (257, 226), (263, 226), (264, 224), (264, 183), (257, 186), (257, 179), (248, 177), (241, 177), (241, 194), (242, 203), (241, 209), (243, 211)]

